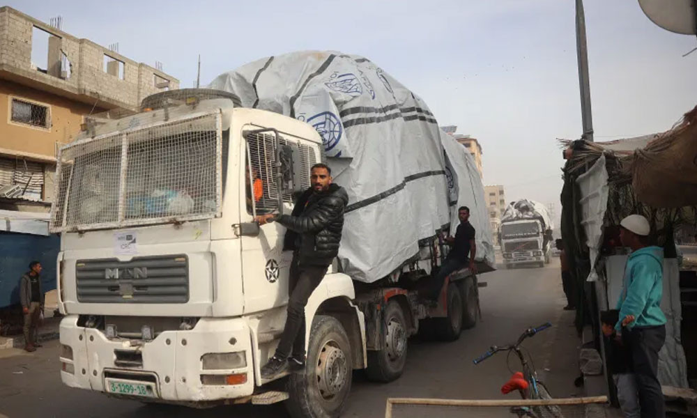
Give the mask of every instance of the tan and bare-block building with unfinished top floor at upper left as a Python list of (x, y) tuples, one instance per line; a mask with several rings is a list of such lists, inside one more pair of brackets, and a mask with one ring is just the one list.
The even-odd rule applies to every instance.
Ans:
[(135, 112), (147, 95), (178, 86), (149, 65), (0, 8), (0, 210), (49, 210), (57, 149), (84, 116)]

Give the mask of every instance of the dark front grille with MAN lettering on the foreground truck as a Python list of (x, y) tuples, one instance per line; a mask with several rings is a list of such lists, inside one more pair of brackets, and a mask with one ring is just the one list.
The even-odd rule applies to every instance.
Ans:
[(84, 303), (186, 303), (189, 267), (185, 255), (78, 260), (77, 300)]

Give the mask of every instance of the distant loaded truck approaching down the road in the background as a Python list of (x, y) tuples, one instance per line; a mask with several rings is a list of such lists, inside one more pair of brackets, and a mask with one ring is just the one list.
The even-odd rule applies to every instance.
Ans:
[(553, 224), (547, 208), (521, 199), (511, 203), (501, 219), (500, 242), (506, 268), (544, 267), (552, 255)]

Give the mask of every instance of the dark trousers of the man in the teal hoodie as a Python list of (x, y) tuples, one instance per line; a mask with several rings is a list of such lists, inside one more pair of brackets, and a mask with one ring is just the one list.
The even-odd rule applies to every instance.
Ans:
[(639, 391), (641, 417), (665, 417), (665, 401), (657, 375), (658, 352), (666, 341), (666, 325), (634, 327), (629, 331), (628, 340)]

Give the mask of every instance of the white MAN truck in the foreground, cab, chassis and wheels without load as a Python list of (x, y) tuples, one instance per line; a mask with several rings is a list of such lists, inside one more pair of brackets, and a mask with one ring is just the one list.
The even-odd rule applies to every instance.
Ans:
[(351, 372), (398, 378), (424, 320), (450, 341), (475, 325), (468, 270), (451, 275), (439, 302), (419, 296), (422, 266), (437, 267), (447, 251), (435, 235), (374, 284), (334, 263), (307, 304), (306, 370), (262, 380), (286, 317), (292, 254), (282, 226), (253, 219), (290, 212), (322, 139), (230, 93), (158, 98), (133, 116), (88, 120), (59, 155), (52, 230), (61, 233), (66, 385), (197, 407), (286, 401), (293, 417), (337, 417)]

